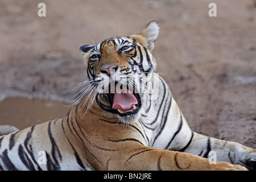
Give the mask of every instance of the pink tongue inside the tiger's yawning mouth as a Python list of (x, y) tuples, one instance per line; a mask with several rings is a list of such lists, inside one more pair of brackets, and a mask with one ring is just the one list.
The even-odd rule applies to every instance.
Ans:
[(123, 111), (130, 110), (133, 105), (138, 104), (136, 97), (129, 90), (126, 90), (126, 93), (115, 92), (113, 100), (112, 108)]

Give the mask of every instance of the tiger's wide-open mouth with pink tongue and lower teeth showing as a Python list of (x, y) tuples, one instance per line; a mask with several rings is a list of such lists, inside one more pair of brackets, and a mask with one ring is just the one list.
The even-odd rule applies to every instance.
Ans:
[(120, 116), (135, 114), (138, 112), (137, 94), (130, 92), (128, 88), (115, 89), (115, 93), (109, 93), (112, 101), (112, 109), (116, 110)]

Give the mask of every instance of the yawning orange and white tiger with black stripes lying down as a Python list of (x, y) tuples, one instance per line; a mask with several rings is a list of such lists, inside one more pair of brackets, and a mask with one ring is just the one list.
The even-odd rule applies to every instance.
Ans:
[[(152, 55), (159, 25), (80, 47), (67, 115), (0, 138), (1, 170), (255, 170), (256, 150), (192, 131)], [(76, 88), (76, 89), (77, 89)], [(216, 160), (212, 160), (213, 154)]]

